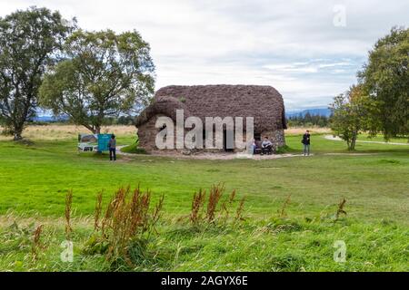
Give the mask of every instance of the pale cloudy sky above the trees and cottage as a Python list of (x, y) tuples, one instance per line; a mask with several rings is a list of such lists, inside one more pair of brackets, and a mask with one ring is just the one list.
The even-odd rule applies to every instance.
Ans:
[(377, 39), (409, 26), (407, 0), (0, 0), (76, 17), (85, 30), (137, 30), (156, 90), (171, 84), (272, 85), (287, 111), (326, 107), (356, 82)]

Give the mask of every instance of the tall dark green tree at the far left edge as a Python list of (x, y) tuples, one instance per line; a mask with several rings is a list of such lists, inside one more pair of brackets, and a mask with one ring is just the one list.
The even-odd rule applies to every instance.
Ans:
[(0, 119), (14, 140), (22, 139), (25, 122), (35, 116), (46, 64), (55, 61), (74, 25), (36, 7), (0, 18)]

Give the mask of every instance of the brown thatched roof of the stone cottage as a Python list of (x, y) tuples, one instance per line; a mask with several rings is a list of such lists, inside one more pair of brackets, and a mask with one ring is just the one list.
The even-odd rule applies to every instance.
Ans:
[[(185, 118), (254, 117), (254, 131), (286, 129), (284, 102), (271, 86), (261, 85), (172, 85), (155, 93), (154, 101), (135, 119), (141, 126), (156, 114), (175, 120), (177, 109), (184, 109)], [(245, 128), (245, 127), (244, 127)]]

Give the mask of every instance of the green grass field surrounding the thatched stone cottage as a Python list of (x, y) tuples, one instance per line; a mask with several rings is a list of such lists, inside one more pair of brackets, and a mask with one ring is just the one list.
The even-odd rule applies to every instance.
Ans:
[[(318, 131), (312, 136), (314, 156), (308, 158), (135, 155), (114, 163), (106, 154), (77, 153), (75, 130), (35, 130), (28, 145), (0, 140), (0, 270), (409, 270), (409, 146), (357, 143), (350, 154), (344, 142), (325, 140), (325, 131)], [(132, 127), (109, 131), (120, 144), (135, 141)], [(300, 133), (287, 132), (289, 152), (301, 150)], [(246, 197), (245, 220), (191, 226), (184, 217), (193, 194), (217, 183)], [(104, 255), (85, 255), (96, 193), (104, 190), (106, 204), (115, 189), (138, 184), (153, 192), (154, 202), (165, 195), (164, 215), (145, 254), (132, 267), (115, 268)], [(63, 263), (60, 244), (70, 189), (75, 259)], [(342, 198), (347, 215), (335, 219)], [(14, 222), (18, 227), (11, 227)], [(45, 225), (44, 247), (33, 260), (32, 236), (39, 224)], [(346, 244), (345, 263), (334, 262), (336, 240)]]

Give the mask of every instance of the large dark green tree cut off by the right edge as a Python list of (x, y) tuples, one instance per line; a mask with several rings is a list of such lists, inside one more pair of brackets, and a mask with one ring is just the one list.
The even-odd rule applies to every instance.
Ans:
[(396, 28), (374, 45), (358, 73), (377, 110), (372, 116), (385, 140), (409, 135), (409, 29)]

